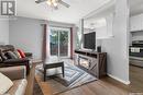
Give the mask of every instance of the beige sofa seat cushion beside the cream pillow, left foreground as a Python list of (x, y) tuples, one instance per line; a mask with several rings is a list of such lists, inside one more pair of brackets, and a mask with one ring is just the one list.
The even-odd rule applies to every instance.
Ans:
[(25, 79), (13, 81), (13, 86), (6, 93), (10, 95), (24, 95), (28, 81)]

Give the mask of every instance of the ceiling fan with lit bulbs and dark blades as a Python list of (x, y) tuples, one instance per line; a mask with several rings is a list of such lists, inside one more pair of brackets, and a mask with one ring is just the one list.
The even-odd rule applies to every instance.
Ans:
[(36, 3), (46, 2), (50, 7), (57, 8), (58, 4), (62, 4), (66, 8), (69, 8), (70, 5), (63, 0), (35, 0)]

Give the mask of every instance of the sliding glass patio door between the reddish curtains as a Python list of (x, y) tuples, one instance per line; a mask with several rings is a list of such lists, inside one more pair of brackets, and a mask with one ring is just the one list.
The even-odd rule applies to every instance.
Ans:
[(69, 57), (70, 29), (62, 27), (51, 27), (50, 49), (51, 57)]

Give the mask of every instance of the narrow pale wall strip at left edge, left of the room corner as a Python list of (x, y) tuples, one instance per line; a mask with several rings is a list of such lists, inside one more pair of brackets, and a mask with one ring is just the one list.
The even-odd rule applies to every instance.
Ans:
[(0, 45), (9, 44), (9, 21), (0, 21)]

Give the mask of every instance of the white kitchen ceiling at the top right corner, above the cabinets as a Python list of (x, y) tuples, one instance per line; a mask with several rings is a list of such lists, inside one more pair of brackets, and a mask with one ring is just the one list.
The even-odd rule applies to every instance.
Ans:
[(129, 2), (131, 16), (143, 13), (143, 0), (129, 0)]

